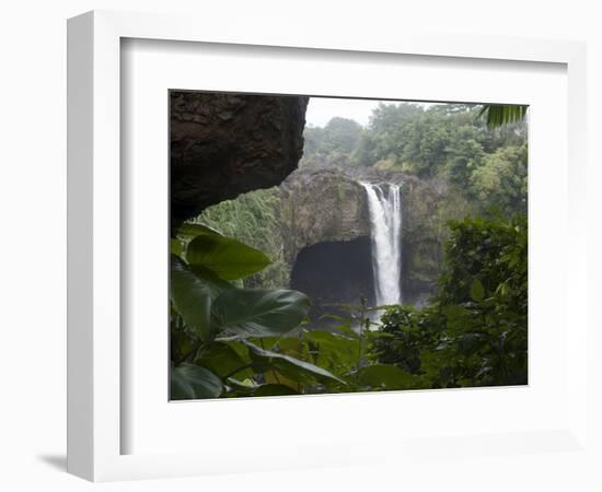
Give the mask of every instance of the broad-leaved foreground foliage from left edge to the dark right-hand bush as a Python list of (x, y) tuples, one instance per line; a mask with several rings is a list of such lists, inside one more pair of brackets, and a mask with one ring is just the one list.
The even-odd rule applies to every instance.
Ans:
[[(182, 236), (171, 272), (172, 399), (405, 389), (415, 383), (366, 353), (373, 337), (366, 301), (345, 306), (348, 318), (333, 317), (339, 321), (334, 331), (304, 329), (304, 294), (240, 289), (224, 278), (247, 272), (257, 251), (205, 227), (185, 225)], [(236, 250), (248, 265), (239, 259), (224, 269), (215, 261)]]

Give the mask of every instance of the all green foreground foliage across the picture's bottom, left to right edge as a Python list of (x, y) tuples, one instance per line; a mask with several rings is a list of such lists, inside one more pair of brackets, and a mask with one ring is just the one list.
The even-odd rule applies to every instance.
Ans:
[[(526, 219), (449, 226), (432, 304), (369, 308), (363, 300), (328, 316), (331, 331), (303, 327), (300, 292), (240, 289), (207, 263), (187, 263), (187, 247), (215, 247), (198, 237), (222, 236), (198, 229), (188, 241), (184, 231), (172, 262), (172, 399), (525, 384)], [(230, 242), (219, 244), (244, 246)]]

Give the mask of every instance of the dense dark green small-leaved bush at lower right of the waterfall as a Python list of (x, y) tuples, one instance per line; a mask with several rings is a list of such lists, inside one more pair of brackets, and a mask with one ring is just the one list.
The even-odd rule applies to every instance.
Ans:
[(526, 218), (450, 229), (439, 296), (387, 309), (371, 350), (416, 375), (415, 387), (526, 384)]

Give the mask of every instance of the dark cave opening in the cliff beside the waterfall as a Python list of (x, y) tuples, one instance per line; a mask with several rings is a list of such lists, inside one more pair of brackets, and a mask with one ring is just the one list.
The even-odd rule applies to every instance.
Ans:
[[(345, 316), (339, 304), (359, 305), (362, 297), (374, 303), (370, 237), (319, 243), (303, 248), (291, 272), (291, 289), (305, 293), (312, 303), (312, 326), (327, 327), (323, 315)], [(336, 321), (335, 321), (336, 323)]]

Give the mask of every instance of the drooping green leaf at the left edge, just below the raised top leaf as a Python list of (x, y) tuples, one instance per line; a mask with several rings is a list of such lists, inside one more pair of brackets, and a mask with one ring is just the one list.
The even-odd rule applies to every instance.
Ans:
[(171, 267), (171, 297), (175, 309), (201, 340), (210, 340), (213, 336), (211, 289), (174, 255)]

